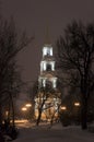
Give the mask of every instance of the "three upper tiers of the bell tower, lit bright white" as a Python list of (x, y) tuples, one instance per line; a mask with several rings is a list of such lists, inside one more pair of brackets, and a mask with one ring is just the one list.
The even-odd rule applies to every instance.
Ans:
[(43, 59), (40, 61), (40, 75), (38, 78), (38, 87), (51, 85), (57, 87), (57, 76), (55, 75), (55, 59), (52, 57), (52, 47), (50, 44), (45, 44), (43, 47)]

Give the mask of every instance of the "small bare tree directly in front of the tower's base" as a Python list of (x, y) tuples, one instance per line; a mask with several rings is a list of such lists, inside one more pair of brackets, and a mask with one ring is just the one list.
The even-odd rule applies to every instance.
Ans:
[[(39, 125), (40, 118), (42, 118), (42, 113), (44, 111), (46, 118), (50, 120), (50, 125), (52, 126), (55, 115), (59, 110), (59, 106), (61, 104), (61, 102), (60, 102), (61, 96), (60, 96), (59, 91), (52, 88), (50, 85), (47, 84), (45, 87), (40, 87), (38, 90), (36, 98), (39, 98), (39, 100), (38, 100), (38, 117), (37, 117), (36, 125), (37, 126)], [(55, 109), (54, 111), (50, 111), (51, 108), (54, 108), (56, 105), (54, 99), (57, 99), (58, 108)], [(44, 107), (44, 105), (46, 107)], [(49, 113), (47, 116), (48, 110), (49, 110)]]

